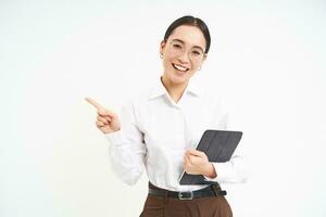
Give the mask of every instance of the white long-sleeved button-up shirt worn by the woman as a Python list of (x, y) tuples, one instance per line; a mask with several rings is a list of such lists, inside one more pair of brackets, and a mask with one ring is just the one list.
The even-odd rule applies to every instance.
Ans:
[[(193, 79), (193, 78), (192, 78)], [(121, 130), (106, 133), (114, 173), (134, 184), (147, 170), (156, 187), (172, 191), (193, 191), (205, 186), (180, 186), (183, 158), (187, 149), (196, 149), (206, 129), (229, 129), (228, 114), (221, 100), (208, 94), (190, 79), (175, 103), (158, 79), (155, 86), (123, 106)], [(243, 182), (247, 166), (237, 154), (226, 163), (213, 163), (218, 183)], [(206, 178), (209, 179), (209, 178)]]

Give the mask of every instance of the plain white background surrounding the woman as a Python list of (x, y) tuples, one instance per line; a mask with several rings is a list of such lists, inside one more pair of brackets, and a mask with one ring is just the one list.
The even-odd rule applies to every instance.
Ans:
[[(326, 216), (325, 1), (1, 1), (0, 216), (138, 216), (112, 173), (92, 97), (118, 111), (162, 73), (177, 17), (211, 30), (200, 76), (242, 124), (252, 176), (236, 217)], [(244, 141), (244, 140), (243, 140)]]

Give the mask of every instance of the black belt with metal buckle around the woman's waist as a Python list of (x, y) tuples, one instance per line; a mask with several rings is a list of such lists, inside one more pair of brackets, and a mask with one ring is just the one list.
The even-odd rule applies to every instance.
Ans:
[(220, 186), (209, 186), (204, 189), (200, 189), (197, 191), (168, 191), (165, 189), (160, 189), (152, 183), (149, 183), (149, 194), (155, 195), (155, 196), (167, 196), (173, 199), (179, 199), (179, 200), (192, 200), (192, 199), (199, 199), (199, 197), (209, 197), (209, 196), (224, 196), (226, 195), (226, 191), (221, 190)]

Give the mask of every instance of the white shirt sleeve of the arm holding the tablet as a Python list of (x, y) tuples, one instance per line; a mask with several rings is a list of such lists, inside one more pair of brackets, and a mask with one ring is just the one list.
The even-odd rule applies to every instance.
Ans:
[[(225, 130), (238, 130), (243, 131), (239, 125), (230, 119), (229, 112), (225, 112), (225, 104), (220, 104), (218, 112), (214, 119), (214, 125), (218, 126), (221, 129)], [(249, 165), (244, 156), (243, 150), (246, 149), (246, 132), (243, 132), (242, 138), (234, 152), (231, 158), (225, 163), (215, 163), (212, 162), (212, 165), (215, 168), (216, 177), (209, 178), (204, 177), (206, 180), (216, 181), (218, 183), (239, 183), (246, 182), (249, 178)]]

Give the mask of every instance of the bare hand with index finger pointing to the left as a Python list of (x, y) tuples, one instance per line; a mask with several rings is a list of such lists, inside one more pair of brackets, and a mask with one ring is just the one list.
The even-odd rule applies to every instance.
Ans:
[(117, 114), (103, 107), (90, 98), (85, 98), (85, 100), (93, 105), (98, 111), (96, 126), (99, 128), (99, 130), (101, 130), (103, 133), (110, 133), (121, 129)]

